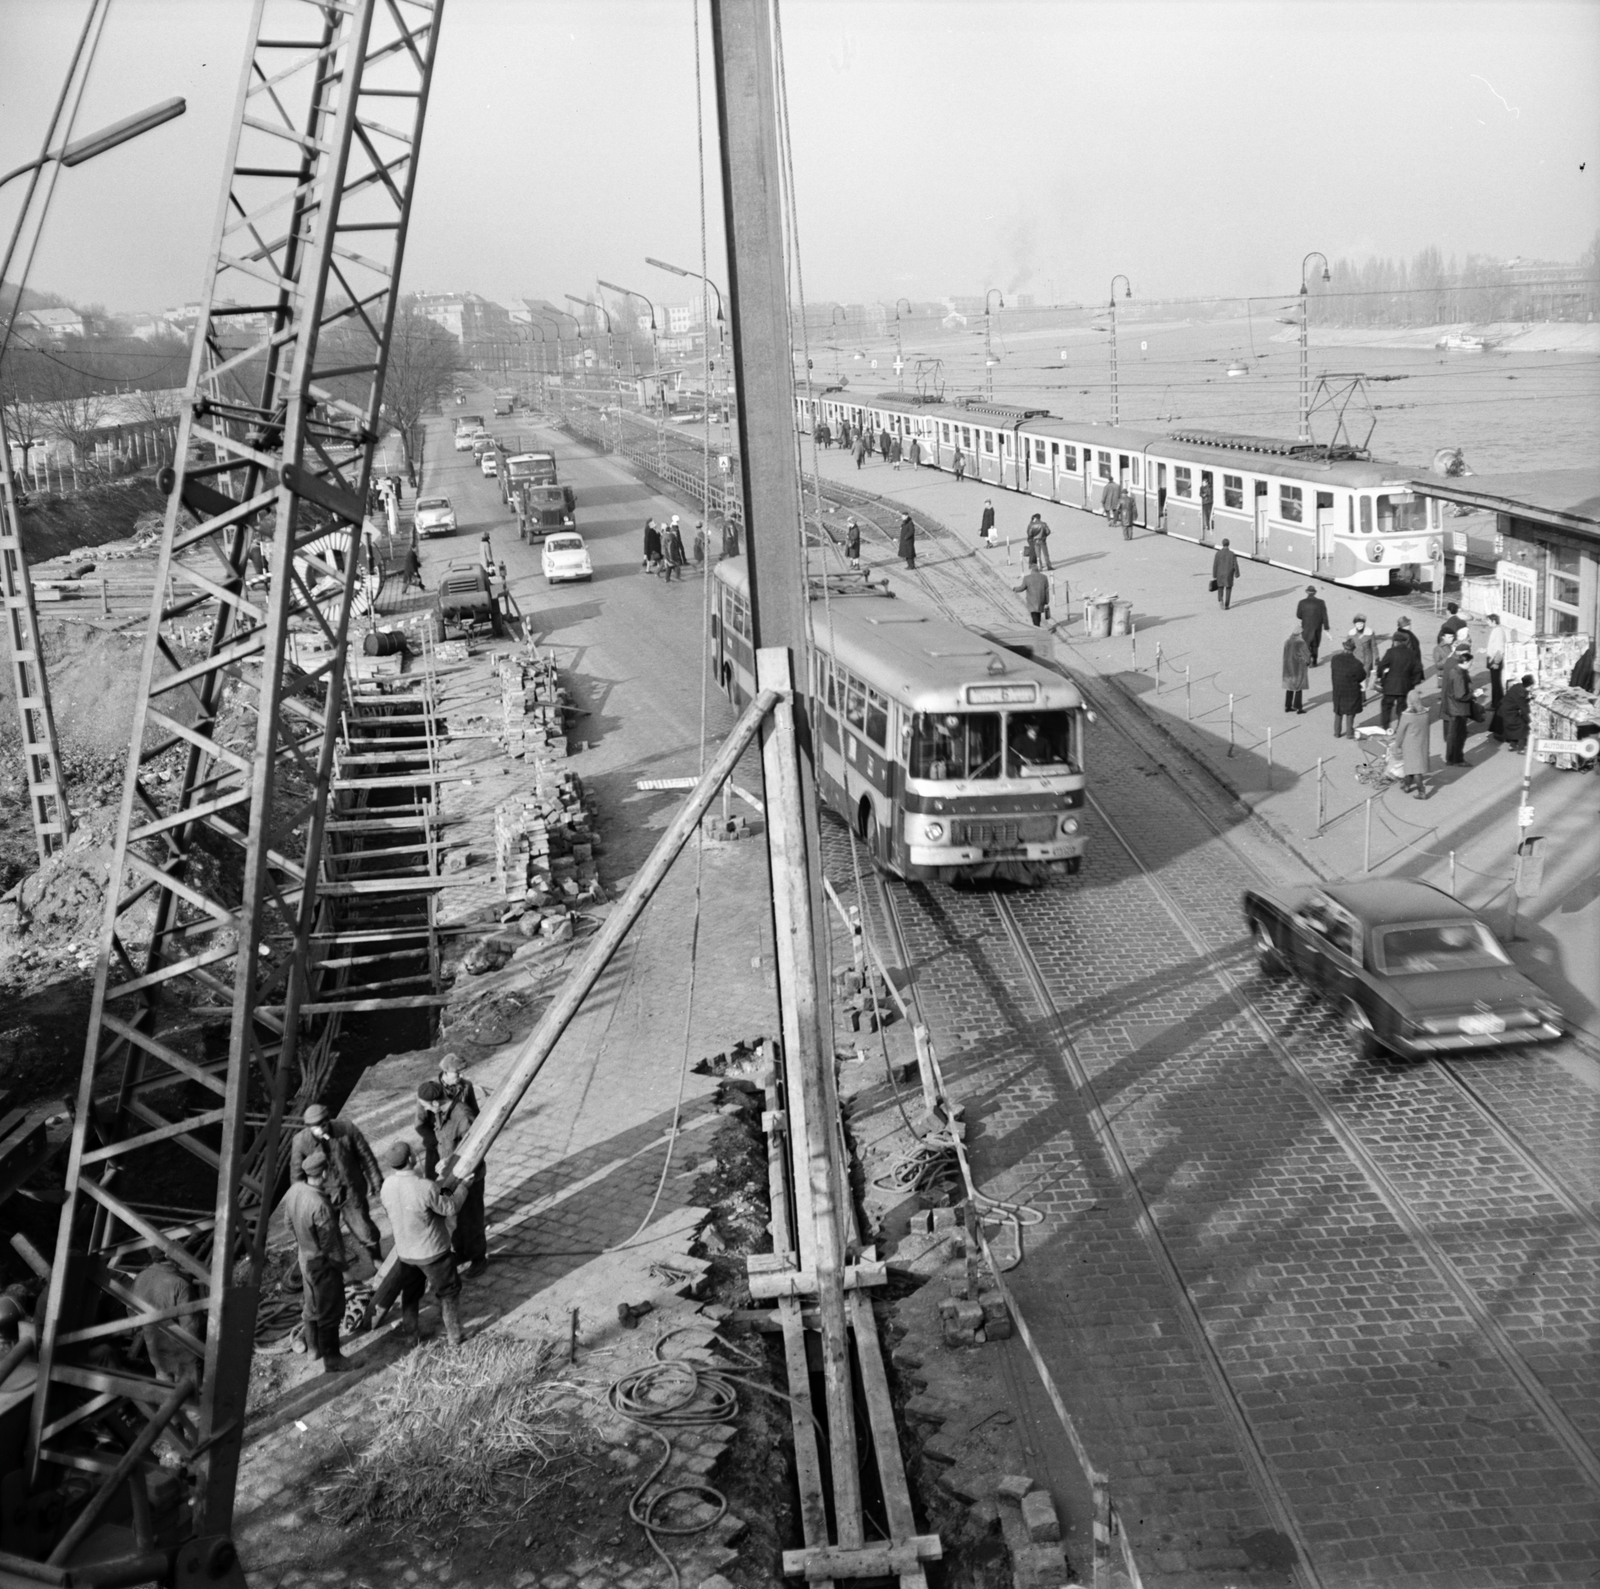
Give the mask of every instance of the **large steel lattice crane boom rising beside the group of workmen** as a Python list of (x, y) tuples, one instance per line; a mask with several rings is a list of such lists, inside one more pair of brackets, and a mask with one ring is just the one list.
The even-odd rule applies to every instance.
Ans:
[[(317, 1037), (307, 939), (442, 5), (256, 0), (146, 634), (29, 1466), (109, 1480), (173, 1389), (118, 1351), (152, 1323), (195, 1362), (162, 1439), (202, 1539), (232, 1528), (280, 1128)], [(181, 781), (152, 776), (168, 752)], [(146, 1259), (192, 1299), (146, 1317)]]

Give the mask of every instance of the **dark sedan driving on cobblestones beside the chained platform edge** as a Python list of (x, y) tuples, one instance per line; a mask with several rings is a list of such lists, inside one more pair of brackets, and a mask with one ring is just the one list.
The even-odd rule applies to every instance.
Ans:
[(1245, 895), (1262, 971), (1293, 973), (1341, 1015), (1355, 1051), (1426, 1059), (1562, 1035), (1560, 1008), (1459, 899), (1373, 877)]

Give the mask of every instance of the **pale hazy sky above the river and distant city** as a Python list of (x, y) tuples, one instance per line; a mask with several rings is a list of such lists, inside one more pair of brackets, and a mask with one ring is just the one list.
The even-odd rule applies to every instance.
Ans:
[[(88, 0), (0, 0), (0, 170)], [(189, 114), (61, 178), (32, 282), (195, 298), (245, 0), (114, 0), (78, 131)], [(693, 0), (446, 0), (405, 282), (501, 301), (694, 266)], [(1275, 293), (1301, 258), (1574, 259), (1600, 227), (1595, 0), (784, 0), (808, 298)], [(715, 93), (704, 98), (714, 277)], [(1581, 170), (1587, 163), (1587, 170)], [(10, 230), (22, 182), (0, 194)]]

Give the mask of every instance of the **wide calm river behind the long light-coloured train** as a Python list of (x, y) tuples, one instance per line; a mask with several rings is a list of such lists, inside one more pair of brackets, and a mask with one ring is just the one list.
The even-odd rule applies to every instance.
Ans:
[[(1293, 437), (1299, 414), (1299, 347), (1272, 338), (1285, 328), (1253, 320), (1139, 323), (1117, 328), (1120, 422), (1138, 429), (1240, 430)], [(1381, 333), (1374, 333), (1378, 336)], [(1475, 474), (1571, 469), (1600, 456), (1600, 355), (1578, 352), (1443, 352), (1432, 347), (1318, 347), (1312, 333), (1310, 389), (1328, 374), (1366, 376), (1352, 400), (1346, 430), (1373, 458), (1426, 466), (1437, 448), (1459, 446)], [(894, 387), (894, 344), (835, 352), (813, 346), (816, 379), (835, 370), (858, 390)], [(915, 358), (944, 360), (946, 395), (978, 392), (984, 379), (982, 323), (965, 333), (906, 346), (906, 389)], [(1070, 419), (1110, 414), (1107, 336), (1082, 326), (1066, 331), (997, 333), (994, 395), (1048, 408)], [(1064, 357), (1062, 357), (1064, 355)], [(869, 360), (877, 358), (872, 371)], [(1229, 376), (1229, 365), (1248, 374)], [(1370, 411), (1368, 411), (1368, 405)], [(1368, 432), (1368, 427), (1373, 427)], [(1333, 434), (1317, 413), (1312, 435)]]

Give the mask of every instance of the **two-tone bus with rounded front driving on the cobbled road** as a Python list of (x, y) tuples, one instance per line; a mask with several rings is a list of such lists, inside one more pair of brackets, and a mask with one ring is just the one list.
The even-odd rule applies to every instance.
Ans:
[[(1083, 858), (1083, 698), (998, 640), (856, 581), (811, 608), (806, 682), (829, 808), (909, 879), (1043, 882)], [(715, 568), (710, 645), (754, 694), (749, 570)]]

